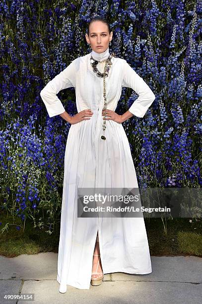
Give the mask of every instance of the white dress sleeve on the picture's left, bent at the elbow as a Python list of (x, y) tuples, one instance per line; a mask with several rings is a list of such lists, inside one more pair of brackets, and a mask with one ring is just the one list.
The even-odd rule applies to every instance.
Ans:
[(74, 61), (75, 60), (73, 60), (60, 74), (50, 80), (40, 92), (49, 117), (65, 112), (65, 108), (56, 94), (67, 87), (75, 87), (76, 73)]

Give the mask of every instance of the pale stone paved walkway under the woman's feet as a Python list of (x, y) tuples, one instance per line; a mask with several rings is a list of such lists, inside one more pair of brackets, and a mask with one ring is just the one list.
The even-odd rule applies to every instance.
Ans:
[[(0, 304), (201, 304), (202, 258), (196, 256), (151, 256), (152, 273), (104, 275), (100, 286), (80, 290), (67, 285), (59, 293), (58, 254), (0, 256)], [(34, 301), (4, 299), (5, 295), (34, 294)]]

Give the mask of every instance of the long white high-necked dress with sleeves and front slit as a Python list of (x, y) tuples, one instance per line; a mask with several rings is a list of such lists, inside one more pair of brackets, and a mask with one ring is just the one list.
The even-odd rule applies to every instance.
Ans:
[[(67, 285), (90, 288), (97, 231), (104, 274), (152, 272), (143, 217), (77, 217), (77, 187), (138, 187), (122, 124), (106, 120), (106, 140), (101, 139), (104, 134), (103, 78), (93, 72), (91, 55), (95, 60), (105, 60), (110, 55), (109, 48), (101, 54), (92, 51), (76, 58), (40, 92), (50, 117), (65, 112), (56, 94), (68, 87), (75, 87), (77, 112), (84, 109), (93, 112), (89, 120), (72, 124), (67, 137), (57, 275), (62, 293), (67, 291)], [(103, 73), (104, 63), (98, 63), (97, 68)], [(137, 117), (143, 117), (155, 99), (149, 86), (124, 59), (112, 58), (112, 67), (105, 79), (107, 109), (116, 110), (123, 86), (131, 87), (138, 94), (129, 108)]]

